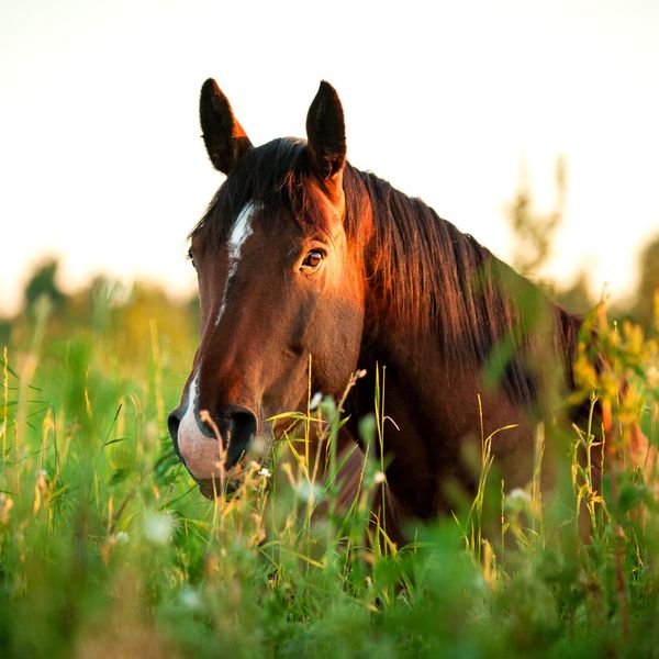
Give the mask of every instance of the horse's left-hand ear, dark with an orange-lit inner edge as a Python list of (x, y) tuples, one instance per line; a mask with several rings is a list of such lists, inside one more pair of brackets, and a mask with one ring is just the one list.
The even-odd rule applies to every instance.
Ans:
[(252, 142), (234, 116), (228, 100), (212, 78), (201, 88), (199, 116), (211, 161), (215, 169), (228, 174), (252, 146)]

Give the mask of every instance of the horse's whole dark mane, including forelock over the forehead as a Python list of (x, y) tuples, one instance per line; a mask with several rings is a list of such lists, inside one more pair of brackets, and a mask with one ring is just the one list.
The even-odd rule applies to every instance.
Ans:
[[(276, 222), (288, 209), (305, 231), (324, 232), (324, 216), (311, 193), (314, 177), (305, 141), (280, 138), (249, 149), (220, 188), (191, 236), (202, 228), (221, 242), (250, 201)], [(492, 365), (505, 391), (529, 403), (537, 383), (525, 358), (538, 340), (551, 336), (562, 355), (567, 384), (581, 319), (552, 303), (536, 286), (460, 232), (418, 198), (411, 198), (371, 172), (346, 164), (345, 231), (366, 254), (369, 287), (380, 300), (380, 326), (436, 333), (456, 367)], [(371, 231), (364, 221), (372, 216)], [(545, 334), (539, 337), (540, 330)]]

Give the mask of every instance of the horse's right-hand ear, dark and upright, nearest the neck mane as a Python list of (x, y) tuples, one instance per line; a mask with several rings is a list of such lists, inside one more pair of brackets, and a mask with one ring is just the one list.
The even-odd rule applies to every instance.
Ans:
[(306, 115), (309, 157), (316, 176), (340, 191), (346, 163), (346, 125), (338, 94), (323, 80)]

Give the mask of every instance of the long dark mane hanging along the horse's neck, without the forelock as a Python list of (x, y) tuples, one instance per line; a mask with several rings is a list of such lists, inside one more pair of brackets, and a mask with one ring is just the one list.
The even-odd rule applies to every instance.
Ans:
[(534, 351), (562, 357), (565, 384), (573, 388), (579, 316), (421, 199), (371, 172), (351, 172), (372, 206), (370, 277), (381, 299), (382, 324), (436, 332), (454, 367), (488, 366), (514, 401), (528, 404), (537, 398), (539, 384), (529, 367)]

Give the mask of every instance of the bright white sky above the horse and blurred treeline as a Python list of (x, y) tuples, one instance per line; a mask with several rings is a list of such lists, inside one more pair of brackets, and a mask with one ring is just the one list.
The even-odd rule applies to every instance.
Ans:
[(190, 292), (186, 235), (222, 181), (200, 138), (215, 77), (253, 143), (304, 136), (322, 78), (348, 157), (502, 258), (520, 171), (568, 208), (550, 273), (634, 284), (659, 233), (659, 2), (0, 2), (0, 314), (32, 267)]

